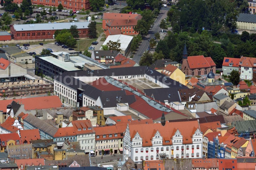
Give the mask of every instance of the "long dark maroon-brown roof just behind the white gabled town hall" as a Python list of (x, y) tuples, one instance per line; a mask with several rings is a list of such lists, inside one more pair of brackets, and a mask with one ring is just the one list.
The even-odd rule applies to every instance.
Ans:
[(208, 122), (216, 122), (216, 121), (220, 121), (221, 124), (226, 123), (223, 115), (206, 116), (206, 117), (193, 118), (193, 119), (168, 120), (168, 122), (185, 122), (185, 121), (194, 121), (194, 120), (199, 120), (199, 123), (208, 123)]

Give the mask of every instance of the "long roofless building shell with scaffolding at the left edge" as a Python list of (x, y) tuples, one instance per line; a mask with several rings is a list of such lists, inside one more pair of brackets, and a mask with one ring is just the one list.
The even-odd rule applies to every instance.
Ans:
[(53, 93), (54, 84), (42, 79), (0, 83), (0, 97)]

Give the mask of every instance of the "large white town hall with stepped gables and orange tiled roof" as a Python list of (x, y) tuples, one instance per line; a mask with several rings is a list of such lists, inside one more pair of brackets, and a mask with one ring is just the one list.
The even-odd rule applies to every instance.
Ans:
[(127, 125), (123, 160), (202, 158), (203, 136), (198, 121)]

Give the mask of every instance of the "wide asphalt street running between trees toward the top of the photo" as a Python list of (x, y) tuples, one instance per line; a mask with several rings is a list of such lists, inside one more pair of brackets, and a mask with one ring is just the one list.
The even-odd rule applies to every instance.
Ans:
[(167, 11), (170, 9), (170, 7), (162, 7), (160, 10), (160, 14), (158, 15), (157, 19), (154, 22), (153, 27), (149, 30), (147, 36), (143, 36), (143, 41), (141, 45), (138, 47), (136, 54), (134, 54), (133, 60), (136, 63), (140, 62), (141, 56), (143, 53), (147, 50), (149, 46), (148, 39), (152, 39), (155, 37), (156, 32), (161, 32), (162, 29), (159, 27), (161, 19), (164, 19), (167, 16)]

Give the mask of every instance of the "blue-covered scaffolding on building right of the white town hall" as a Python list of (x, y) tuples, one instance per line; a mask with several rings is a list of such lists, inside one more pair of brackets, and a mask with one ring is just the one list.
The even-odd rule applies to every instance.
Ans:
[(213, 141), (208, 142), (208, 158), (224, 158), (225, 148), (223, 145), (219, 144), (219, 138), (216, 137)]

